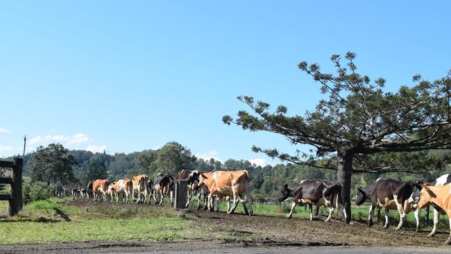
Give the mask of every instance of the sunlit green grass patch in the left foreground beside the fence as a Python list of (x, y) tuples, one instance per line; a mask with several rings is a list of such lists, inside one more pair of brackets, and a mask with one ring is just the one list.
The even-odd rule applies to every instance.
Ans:
[[(183, 219), (171, 208), (149, 205), (111, 205), (99, 203), (87, 208), (76, 208), (51, 198), (24, 206), (19, 216), (0, 221), (0, 244), (84, 242), (84, 241), (179, 241), (224, 239), (220, 233), (193, 230), (194, 222)], [(57, 203), (58, 202), (58, 203)], [(6, 202), (0, 202), (1, 210)]]

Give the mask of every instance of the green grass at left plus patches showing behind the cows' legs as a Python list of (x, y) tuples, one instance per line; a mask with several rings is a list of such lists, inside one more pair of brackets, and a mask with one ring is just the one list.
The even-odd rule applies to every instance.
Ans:
[[(0, 202), (0, 244), (84, 242), (84, 241), (181, 241), (184, 239), (226, 239), (230, 236), (214, 232), (185, 219), (183, 212), (173, 210), (168, 205), (126, 205), (94, 203), (86, 207), (66, 205), (69, 199), (51, 198), (25, 205), (19, 216), (7, 218), (7, 202)], [(167, 204), (167, 202), (165, 202)], [(191, 203), (194, 209), (197, 202)], [(226, 210), (226, 203), (220, 209)], [(243, 212), (241, 205), (236, 212)], [(255, 214), (284, 217), (289, 212), (289, 204), (260, 205), (254, 207)], [(325, 208), (320, 215), (327, 216)], [(424, 215), (424, 212), (423, 212)], [(308, 209), (296, 207), (294, 218), (309, 218)], [(337, 217), (337, 211), (334, 212)], [(366, 222), (368, 205), (352, 208), (352, 219)], [(391, 227), (398, 224), (398, 212), (390, 212)], [(432, 212), (429, 214), (432, 221)], [(382, 220), (384, 219), (382, 215)], [(424, 221), (424, 217), (422, 217)], [(405, 228), (414, 228), (414, 215), (407, 214)], [(429, 230), (431, 226), (422, 226)], [(447, 230), (448, 222), (442, 217), (440, 228)]]

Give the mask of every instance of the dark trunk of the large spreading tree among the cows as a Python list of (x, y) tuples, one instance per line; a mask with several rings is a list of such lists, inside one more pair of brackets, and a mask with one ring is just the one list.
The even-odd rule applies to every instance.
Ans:
[[(346, 211), (346, 223), (351, 220), (351, 176), (352, 176), (352, 158), (353, 154), (346, 149), (340, 149), (337, 153), (337, 180), (341, 185), (341, 198), (343, 199), (344, 209)], [(343, 216), (342, 208), (339, 208), (340, 216)]]

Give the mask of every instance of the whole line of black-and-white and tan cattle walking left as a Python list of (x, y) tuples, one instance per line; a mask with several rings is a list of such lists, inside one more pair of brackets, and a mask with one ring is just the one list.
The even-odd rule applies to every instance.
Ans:
[[(87, 189), (72, 189), (72, 195), (75, 197), (94, 198), (94, 200), (106, 201), (110, 196), (111, 201), (116, 198), (119, 202), (119, 194), (124, 194), (124, 202), (129, 199), (135, 201), (135, 194), (138, 203), (150, 203), (151, 198), (158, 205), (162, 204), (165, 196), (168, 196), (173, 202), (173, 192), (178, 180), (187, 181), (187, 203), (188, 207), (192, 196), (198, 197), (197, 209), (201, 205), (203, 194), (203, 208), (210, 211), (214, 210), (214, 201), (216, 200), (216, 212), (219, 210), (219, 201), (226, 199), (228, 203), (227, 212), (232, 214), (237, 207), (238, 202), (243, 205), (246, 214), (253, 214), (253, 198), (249, 189), (248, 171), (214, 171), (200, 172), (182, 170), (179, 173), (170, 175), (167, 173), (158, 173), (155, 179), (150, 180), (146, 175), (133, 176), (131, 179), (117, 181), (94, 180), (87, 185)], [(157, 201), (157, 197), (160, 201)], [(282, 187), (282, 196), (279, 201), (287, 198), (293, 198), (291, 202), (291, 211), (287, 215), (291, 218), (293, 209), (296, 205), (307, 205), (310, 211), (310, 219), (314, 218), (312, 205), (316, 205), (316, 212), (321, 206), (329, 210), (329, 215), (325, 221), (330, 221), (332, 212), (335, 208), (343, 210), (343, 199), (341, 198), (341, 185), (327, 180), (302, 180), (298, 185)], [(229, 208), (229, 198), (233, 198), (232, 208)], [(377, 219), (379, 219), (380, 210), (385, 210), (384, 228), (389, 226), (389, 210), (398, 210), (400, 222), (396, 229), (402, 227), (402, 223), (407, 213), (414, 211), (416, 219), (416, 230), (419, 230), (419, 208), (426, 208), (429, 205), (434, 207), (434, 228), (429, 236), (436, 233), (440, 214), (448, 214), (450, 220), (450, 237), (446, 244), (451, 242), (451, 175), (445, 174), (432, 183), (407, 182), (403, 183), (391, 178), (378, 178), (375, 183), (366, 187), (357, 188), (356, 205), (363, 204), (366, 200), (371, 201), (368, 211), (368, 226), (373, 225), (373, 212), (377, 210)], [(250, 210), (246, 208), (248, 203)]]

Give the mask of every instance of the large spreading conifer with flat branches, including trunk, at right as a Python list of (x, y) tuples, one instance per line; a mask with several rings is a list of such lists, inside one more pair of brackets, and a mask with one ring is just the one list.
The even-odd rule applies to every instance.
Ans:
[[(255, 101), (252, 96), (239, 96), (254, 115), (240, 110), (237, 119), (223, 117), (228, 125), (278, 133), (291, 144), (311, 146), (309, 153), (298, 151), (293, 155), (257, 146), (253, 146), (253, 151), (296, 164), (336, 170), (348, 223), (352, 173), (432, 169), (427, 160), (419, 160), (417, 167), (410, 167), (414, 160), (409, 157), (415, 158), (411, 153), (402, 155), (405, 158), (402, 162), (409, 162), (407, 164), (398, 163), (391, 155), (383, 158), (374, 156), (375, 153), (451, 148), (451, 71), (434, 82), (415, 75), (413, 81), (417, 85), (403, 85), (398, 92), (384, 93), (384, 78), (372, 82), (368, 76), (358, 74), (355, 56), (355, 53), (346, 53), (347, 67), (342, 65), (339, 55), (332, 56), (337, 74), (323, 72), (317, 64), (300, 62), (299, 69), (321, 84), (321, 93), (327, 94), (315, 110), (303, 116), (287, 116), (284, 105), (269, 112), (269, 103)], [(318, 159), (327, 158), (330, 163), (316, 163)]]

